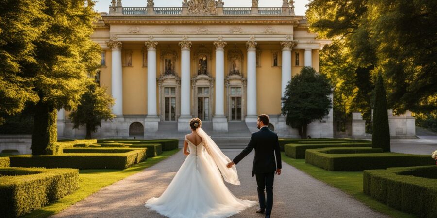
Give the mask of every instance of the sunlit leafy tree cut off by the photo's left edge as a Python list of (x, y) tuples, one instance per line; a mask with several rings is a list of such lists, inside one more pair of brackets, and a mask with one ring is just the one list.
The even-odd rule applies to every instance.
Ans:
[(44, 4), (35, 0), (0, 1), (0, 125), (24, 109), (26, 102), (37, 102), (32, 78), (23, 68), (35, 64), (35, 41), (47, 29)]

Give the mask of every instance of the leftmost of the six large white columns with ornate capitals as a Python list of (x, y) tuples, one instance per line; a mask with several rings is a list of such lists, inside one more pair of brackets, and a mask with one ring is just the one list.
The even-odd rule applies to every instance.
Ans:
[(112, 97), (115, 98), (115, 104), (112, 106), (112, 113), (116, 116), (123, 116), (123, 74), (121, 65), (122, 43), (117, 40), (116, 35), (113, 35), (106, 44), (112, 49), (111, 94)]

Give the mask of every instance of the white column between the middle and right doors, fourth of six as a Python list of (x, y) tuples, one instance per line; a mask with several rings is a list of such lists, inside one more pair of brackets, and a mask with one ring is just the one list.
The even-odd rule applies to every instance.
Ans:
[(215, 115), (213, 117), (214, 131), (228, 131), (228, 121), (224, 116), (224, 47), (226, 42), (222, 36), (218, 36), (216, 46), (216, 99)]

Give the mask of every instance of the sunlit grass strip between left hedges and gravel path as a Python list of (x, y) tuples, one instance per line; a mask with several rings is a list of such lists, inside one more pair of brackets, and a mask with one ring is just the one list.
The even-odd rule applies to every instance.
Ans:
[(45, 218), (53, 214), (59, 213), (62, 210), (73, 205), (94, 192), (97, 192), (102, 187), (111, 185), (119, 180), (122, 180), (130, 175), (133, 175), (145, 168), (151, 167), (158, 162), (166, 159), (169, 156), (176, 154), (179, 149), (164, 151), (161, 155), (149, 157), (146, 161), (134, 165), (124, 170), (80, 170), (79, 171), (79, 190), (73, 194), (67, 195), (64, 198), (35, 210), (23, 218)]

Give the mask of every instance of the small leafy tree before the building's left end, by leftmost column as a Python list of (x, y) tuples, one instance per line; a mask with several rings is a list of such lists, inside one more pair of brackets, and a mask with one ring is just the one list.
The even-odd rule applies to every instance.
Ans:
[(106, 93), (106, 87), (100, 87), (94, 81), (89, 81), (86, 88), (80, 104), (69, 117), (74, 124), (73, 128), (85, 125), (85, 139), (91, 139), (91, 133), (97, 131), (97, 126), (101, 127), (101, 120), (112, 120), (115, 117), (111, 112), (111, 106), (115, 101)]

